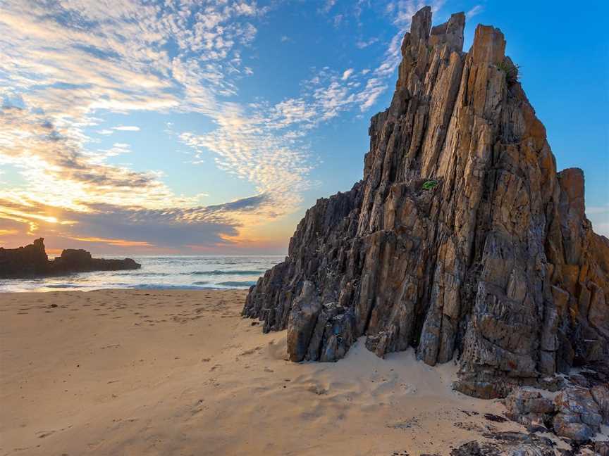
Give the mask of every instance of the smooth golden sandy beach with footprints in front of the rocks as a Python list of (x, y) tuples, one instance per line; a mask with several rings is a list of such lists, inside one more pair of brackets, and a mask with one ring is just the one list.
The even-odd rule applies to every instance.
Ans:
[(522, 429), (412, 350), (288, 362), (245, 294), (0, 294), (0, 455), (446, 455)]

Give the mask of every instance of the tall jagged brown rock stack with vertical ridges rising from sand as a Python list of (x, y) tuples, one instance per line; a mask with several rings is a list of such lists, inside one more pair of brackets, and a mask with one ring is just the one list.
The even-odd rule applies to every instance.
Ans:
[(292, 360), (365, 335), (379, 356), (457, 356), (457, 388), (492, 398), (607, 356), (609, 241), (582, 171), (556, 172), (500, 30), (479, 25), (463, 53), (464, 26), (414, 15), (364, 179), (307, 210), (250, 289), (243, 315), (287, 327)]

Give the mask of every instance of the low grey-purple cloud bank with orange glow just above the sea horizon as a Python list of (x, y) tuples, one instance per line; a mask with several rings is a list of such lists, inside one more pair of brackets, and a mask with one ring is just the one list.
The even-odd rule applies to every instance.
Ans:
[(30, 236), (44, 232), (57, 248), (87, 243), (143, 252), (148, 248), (180, 251), (185, 246), (230, 248), (242, 224), (237, 216), (256, 214), (265, 200), (255, 196), (222, 205), (154, 210), (98, 203), (76, 211), (14, 196), (0, 195), (3, 243), (25, 230)]

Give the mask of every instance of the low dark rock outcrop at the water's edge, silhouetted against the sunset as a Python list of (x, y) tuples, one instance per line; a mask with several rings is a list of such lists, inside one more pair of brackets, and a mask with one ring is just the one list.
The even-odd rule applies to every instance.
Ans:
[(44, 239), (19, 248), (0, 247), (0, 278), (36, 277), (70, 274), (73, 272), (135, 270), (142, 267), (131, 258), (106, 260), (92, 258), (84, 250), (67, 248), (61, 256), (49, 260), (44, 250)]

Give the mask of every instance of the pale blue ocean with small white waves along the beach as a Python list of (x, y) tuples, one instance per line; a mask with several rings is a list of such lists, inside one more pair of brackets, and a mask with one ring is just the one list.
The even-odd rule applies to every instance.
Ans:
[[(111, 255), (101, 258), (112, 258)], [(99, 289), (247, 289), (283, 255), (133, 256), (133, 271), (81, 272), (36, 279), (0, 279), (0, 292)]]

